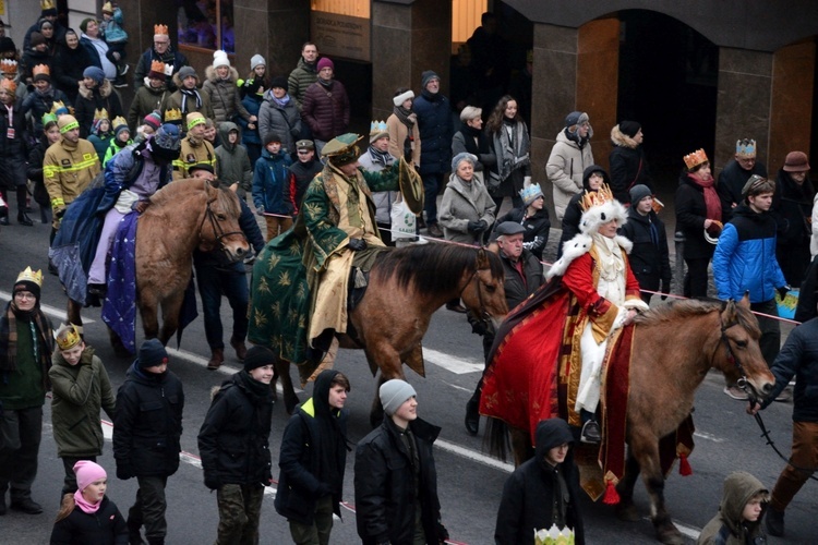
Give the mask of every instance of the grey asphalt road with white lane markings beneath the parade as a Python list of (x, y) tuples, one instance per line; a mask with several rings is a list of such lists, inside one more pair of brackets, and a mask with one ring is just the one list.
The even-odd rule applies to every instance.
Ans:
[[(33, 215), (33, 217), (36, 217)], [(14, 216), (12, 215), (12, 221)], [(0, 232), (0, 300), (4, 304), (16, 275), (27, 265), (46, 270), (48, 226), (36, 223), (33, 228), (17, 225), (2, 228)], [(552, 239), (558, 233), (552, 233)], [(43, 303), (55, 323), (60, 319), (65, 296), (57, 278), (46, 274)], [(201, 308), (201, 305), (200, 305)], [(229, 306), (224, 316), (229, 331)], [(64, 316), (64, 314), (62, 315)], [(86, 340), (95, 347), (111, 376), (115, 387), (123, 379), (130, 360), (117, 359), (108, 344), (107, 332), (99, 318), (99, 310), (86, 310)], [(229, 335), (229, 332), (228, 332)], [(142, 339), (137, 332), (137, 341)], [(228, 339), (225, 339), (226, 341)], [(175, 346), (171, 343), (171, 346)], [(419, 413), (425, 420), (442, 426), (440, 440), (435, 444), (438, 474), (438, 493), (443, 506), (443, 521), (448, 528), (453, 543), (490, 544), (496, 508), (503, 483), (510, 465), (493, 460), (482, 448), (482, 427), (478, 437), (466, 433), (462, 424), (466, 401), (469, 398), (481, 368), (481, 343), (470, 332), (462, 315), (438, 311), (424, 339), (426, 377), (414, 374), (408, 380), (418, 390)], [(658, 347), (672, 354), (673, 347)], [(169, 544), (202, 544), (215, 540), (218, 514), (215, 495), (203, 484), (197, 465), (196, 434), (209, 404), (209, 390), (219, 385), (230, 373), (239, 370), (234, 354), (228, 348), (226, 365), (218, 372), (208, 372), (205, 363), (209, 356), (204, 338), (201, 317), (185, 331), (182, 352), (171, 353), (171, 370), (184, 384), (187, 405), (184, 410), (184, 434), (182, 437), (183, 463), (168, 482), (168, 540)], [(375, 393), (375, 380), (371, 376), (362, 352), (341, 351), (337, 368), (344, 371), (352, 383), (347, 407), (351, 411), (349, 437), (360, 440), (369, 431), (369, 408)], [(411, 373), (411, 372), (409, 372)], [(296, 374), (293, 371), (293, 378)], [(723, 379), (711, 373), (697, 393), (696, 401), (696, 450), (690, 457), (693, 475), (682, 477), (675, 468), (667, 477), (666, 502), (674, 520), (683, 532), (695, 541), (699, 530), (714, 514), (721, 497), (721, 484), (727, 473), (745, 470), (755, 474), (770, 488), (775, 482), (783, 462), (765, 445), (751, 417), (744, 413), (745, 404), (734, 401), (721, 391)], [(306, 392), (301, 399), (306, 399)], [(34, 484), (33, 496), (46, 508), (39, 516), (27, 516), (10, 511), (0, 518), (0, 544), (47, 543), (53, 516), (57, 512), (62, 482), (62, 464), (56, 456), (56, 446), (50, 428), (50, 407), (46, 403), (46, 416), (40, 450), (40, 465)], [(789, 453), (791, 436), (791, 403), (774, 403), (763, 413), (767, 426), (779, 447)], [(287, 423), (282, 404), (274, 409), (270, 447), (275, 453)], [(481, 423), (481, 426), (484, 423)], [(110, 444), (99, 462), (109, 472), (109, 497), (127, 509), (133, 502), (135, 482), (116, 479)], [(342, 521), (336, 521), (333, 543), (358, 543), (352, 488), (353, 456), (347, 463)], [(277, 468), (276, 468), (277, 470)], [(277, 476), (277, 471), (274, 471)], [(808, 482), (796, 496), (786, 512), (786, 540), (770, 538), (769, 543), (816, 543), (818, 525), (818, 483)], [(262, 543), (290, 543), (285, 519), (273, 507), (275, 489), (270, 487), (263, 505)], [(592, 504), (586, 498), (582, 510), (589, 543), (655, 543), (652, 524), (648, 520), (648, 500), (639, 484), (637, 507), (643, 519), (626, 523), (618, 521), (613, 509), (602, 504)]]

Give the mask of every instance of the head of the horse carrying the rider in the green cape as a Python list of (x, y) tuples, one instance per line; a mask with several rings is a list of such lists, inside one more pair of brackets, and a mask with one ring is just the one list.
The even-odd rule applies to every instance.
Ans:
[(481, 247), (477, 252), (471, 280), (460, 294), (472, 317), (491, 323), (495, 330), (508, 314), (504, 280), (500, 257)]

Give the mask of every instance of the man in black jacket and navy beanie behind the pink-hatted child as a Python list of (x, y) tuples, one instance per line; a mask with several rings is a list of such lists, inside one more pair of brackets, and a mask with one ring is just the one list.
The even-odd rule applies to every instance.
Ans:
[(182, 383), (168, 371), (168, 352), (158, 339), (144, 341), (119, 387), (113, 417), (117, 477), (135, 476), (140, 485), (128, 512), (131, 543), (140, 543), (144, 524), (149, 545), (165, 544), (165, 486), (179, 469), (183, 408)]

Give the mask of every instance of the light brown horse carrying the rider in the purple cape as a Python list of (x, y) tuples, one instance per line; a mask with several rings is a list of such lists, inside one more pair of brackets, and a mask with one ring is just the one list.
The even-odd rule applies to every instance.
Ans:
[[(219, 250), (231, 262), (246, 255), (250, 246), (239, 227), (240, 214), (234, 193), (196, 179), (172, 182), (151, 197), (136, 223), (135, 250), (136, 296), (146, 339), (158, 336), (166, 344), (176, 332), (195, 249)], [(81, 304), (69, 300), (72, 324), (82, 324), (80, 311)], [(124, 355), (121, 340), (109, 332), (117, 353)]]

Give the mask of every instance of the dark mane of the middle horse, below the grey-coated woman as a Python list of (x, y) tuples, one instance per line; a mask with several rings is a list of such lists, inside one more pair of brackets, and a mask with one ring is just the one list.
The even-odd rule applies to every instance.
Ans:
[[(457, 288), (464, 270), (473, 271), (480, 249), (459, 244), (411, 244), (385, 252), (372, 267), (384, 279), (395, 278), (401, 289), (437, 294)], [(503, 278), (503, 264), (493, 252), (485, 251), (492, 277)]]

